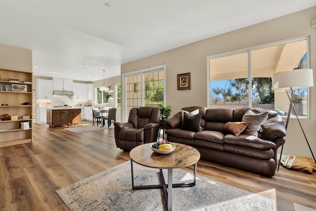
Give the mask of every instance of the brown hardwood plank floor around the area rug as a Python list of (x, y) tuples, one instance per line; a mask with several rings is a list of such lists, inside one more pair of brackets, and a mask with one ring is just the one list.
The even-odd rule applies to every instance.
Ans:
[[(55, 190), (129, 161), (113, 127), (76, 134), (34, 124), (33, 136), (33, 143), (0, 148), (0, 211), (68, 210)], [(204, 161), (197, 173), (275, 198), (278, 211), (294, 211), (293, 203), (316, 209), (315, 174), (280, 167), (266, 177)]]

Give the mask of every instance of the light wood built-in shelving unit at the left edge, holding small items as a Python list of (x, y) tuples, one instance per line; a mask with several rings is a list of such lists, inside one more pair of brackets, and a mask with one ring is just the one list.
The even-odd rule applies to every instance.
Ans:
[[(19, 79), (10, 81), (9, 78)], [(0, 121), (0, 147), (32, 142), (32, 72), (0, 69), (0, 117), (17, 116), (17, 120)], [(26, 83), (23, 83), (26, 81)], [(23, 105), (28, 102), (29, 105)], [(29, 116), (23, 119), (23, 116)], [(22, 129), (21, 122), (29, 125)]]

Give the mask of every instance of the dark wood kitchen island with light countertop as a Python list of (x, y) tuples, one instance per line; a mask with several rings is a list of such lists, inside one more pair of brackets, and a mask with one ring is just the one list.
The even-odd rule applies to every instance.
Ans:
[[(74, 127), (75, 125), (80, 124), (81, 108), (83, 107), (63, 106), (47, 108), (47, 124), (49, 127)], [(63, 112), (67, 113), (65, 114)]]

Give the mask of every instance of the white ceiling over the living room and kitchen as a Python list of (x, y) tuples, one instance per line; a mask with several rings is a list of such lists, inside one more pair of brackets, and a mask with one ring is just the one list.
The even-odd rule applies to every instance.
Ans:
[(118, 76), (121, 64), (313, 6), (316, 0), (0, 0), (0, 43), (31, 49), (35, 76), (92, 82), (103, 69), (106, 78)]

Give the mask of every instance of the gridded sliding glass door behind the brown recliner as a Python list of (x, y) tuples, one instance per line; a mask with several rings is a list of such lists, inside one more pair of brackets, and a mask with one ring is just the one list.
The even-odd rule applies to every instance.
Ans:
[(124, 117), (128, 119), (130, 109), (140, 106), (165, 106), (165, 65), (123, 75)]

